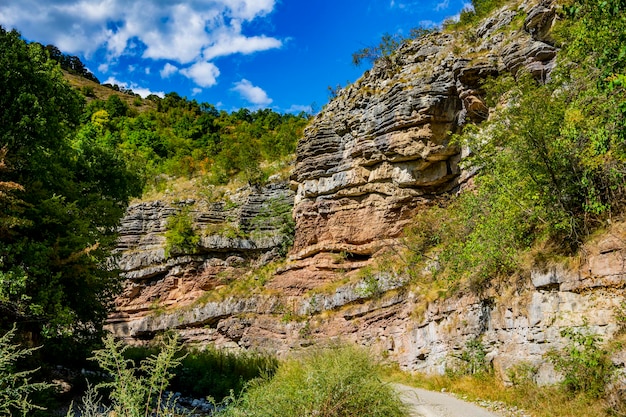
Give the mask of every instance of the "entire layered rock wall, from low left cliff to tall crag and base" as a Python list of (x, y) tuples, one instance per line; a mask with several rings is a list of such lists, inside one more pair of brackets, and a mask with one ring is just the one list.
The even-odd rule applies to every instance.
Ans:
[[(372, 266), (401, 244), (421, 207), (471, 180), (460, 164), (467, 151), (450, 138), (488, 117), (481, 82), (522, 69), (549, 77), (558, 53), (550, 38), (555, 19), (551, 1), (525, 1), (471, 32), (407, 42), (310, 123), (289, 184), (244, 188), (221, 202), (130, 207), (119, 245), (126, 290), (109, 329), (133, 342), (175, 329), (190, 343), (279, 354), (350, 340), (405, 369), (431, 372), (481, 336), (503, 375), (524, 360), (537, 364), (540, 380), (551, 380), (543, 355), (563, 345), (562, 328), (586, 321), (604, 336), (619, 329), (623, 225), (590, 242), (575, 266), (536, 270), (480, 295), (428, 301), (408, 276)], [(295, 238), (280, 261), (291, 232), (279, 216), (286, 205), (293, 205)], [(167, 257), (168, 218), (183, 210), (199, 244)]]

